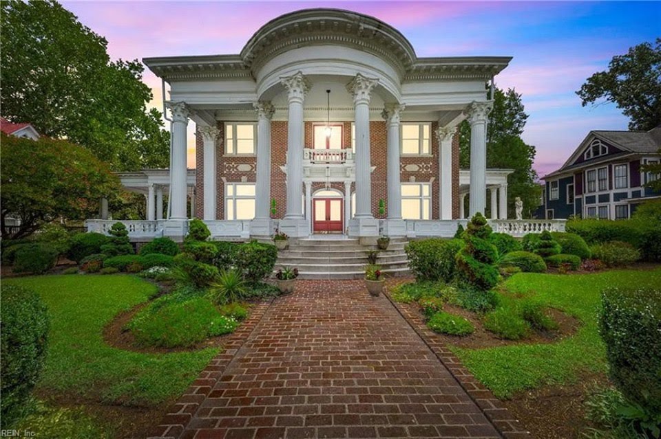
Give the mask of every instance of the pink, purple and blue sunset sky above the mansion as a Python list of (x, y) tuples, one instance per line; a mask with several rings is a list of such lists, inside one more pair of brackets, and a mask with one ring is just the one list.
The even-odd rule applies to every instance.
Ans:
[[(661, 3), (647, 2), (73, 2), (63, 5), (105, 36), (113, 58), (236, 54), (267, 21), (304, 8), (377, 17), (406, 36), (418, 56), (513, 56), (496, 85), (523, 94), (523, 139), (535, 168), (558, 168), (591, 129), (625, 130), (613, 104), (582, 107), (574, 93), (615, 55), (661, 36)], [(160, 80), (145, 71), (160, 109)], [(194, 148), (189, 129), (189, 153)], [(168, 127), (169, 128), (169, 127)], [(189, 159), (191, 155), (189, 154)], [(189, 160), (189, 164), (192, 164)]]

